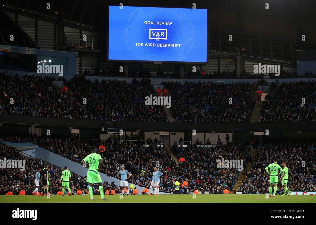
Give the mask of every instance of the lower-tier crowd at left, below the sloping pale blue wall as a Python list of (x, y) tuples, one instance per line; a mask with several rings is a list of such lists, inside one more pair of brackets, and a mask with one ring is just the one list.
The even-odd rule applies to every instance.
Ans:
[[(7, 140), (18, 141), (19, 137), (7, 137)], [(26, 141), (26, 139), (20, 138), (20, 141)], [(21, 168), (1, 168), (0, 169), (0, 195), (5, 195), (8, 192), (12, 192), (13, 195), (19, 195), (21, 191), (24, 194), (31, 195), (35, 190), (35, 173), (39, 168), (44, 169), (44, 165), (47, 163), (41, 159), (36, 159), (31, 156), (21, 154), (18, 150), (12, 146), (6, 146), (0, 143), (0, 159), (4, 160), (25, 160), (25, 170)], [(63, 168), (48, 164), (49, 172), (49, 187), (48, 191), (50, 194), (62, 193), (62, 186), (60, 178), (62, 175)], [(70, 178), (70, 189), (71, 194), (88, 194), (88, 184), (86, 182), (86, 175), (81, 176), (74, 172), (71, 173)], [(107, 181), (104, 182), (104, 192), (111, 192), (114, 190), (115, 193), (121, 193), (121, 188), (118, 187), (115, 182), (111, 184)], [(68, 190), (66, 189), (66, 192)], [(41, 190), (40, 190), (41, 192)], [(36, 193), (37, 194), (37, 193)], [(42, 193), (43, 194), (43, 193)], [(66, 194), (66, 193), (65, 193)], [(93, 186), (93, 194), (100, 194), (98, 185)]]

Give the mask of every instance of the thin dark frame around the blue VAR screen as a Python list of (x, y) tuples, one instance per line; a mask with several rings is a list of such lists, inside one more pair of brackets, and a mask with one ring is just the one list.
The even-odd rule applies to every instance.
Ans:
[[(206, 62), (187, 62), (187, 61), (151, 61), (151, 60), (124, 60), (124, 59), (109, 59), (109, 13), (110, 6), (119, 6), (119, 5), (108, 5), (107, 14), (106, 14), (106, 61), (107, 62), (129, 62), (129, 63), (154, 63), (154, 62), (162, 62), (162, 63), (177, 63), (177, 64), (208, 64), (209, 63), (209, 10), (207, 8), (199, 8), (206, 9)], [(127, 5), (131, 7), (140, 7), (140, 8), (169, 8), (169, 9), (191, 9), (185, 7), (147, 7), (147, 6), (137, 6), (137, 5)], [(123, 5), (123, 7), (126, 7)]]

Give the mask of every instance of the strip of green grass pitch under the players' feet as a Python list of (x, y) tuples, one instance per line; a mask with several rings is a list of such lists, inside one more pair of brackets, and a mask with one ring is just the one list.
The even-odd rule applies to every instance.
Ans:
[(11, 195), (0, 196), (0, 203), (316, 203), (315, 195), (277, 195), (275, 198), (265, 198), (265, 195), (130, 195), (120, 198), (119, 195), (105, 195), (109, 201), (101, 201), (100, 195), (94, 195), (94, 201), (89, 195)]

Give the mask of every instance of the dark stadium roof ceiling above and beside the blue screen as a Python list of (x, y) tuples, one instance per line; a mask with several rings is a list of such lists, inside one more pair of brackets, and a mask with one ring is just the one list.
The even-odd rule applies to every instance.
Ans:
[[(211, 23), (220, 22), (232, 32), (254, 32), (298, 40), (316, 41), (315, 0), (0, 0), (3, 10), (50, 17), (91, 28), (104, 27), (107, 5), (157, 6), (209, 9)], [(46, 9), (46, 3), (51, 9)], [(269, 3), (269, 9), (265, 9)], [(239, 26), (240, 25), (240, 26)]]

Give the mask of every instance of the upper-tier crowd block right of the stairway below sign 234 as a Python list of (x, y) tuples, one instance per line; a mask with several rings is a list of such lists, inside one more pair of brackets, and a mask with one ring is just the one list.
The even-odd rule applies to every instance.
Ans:
[(271, 90), (274, 95), (265, 97), (258, 122), (315, 122), (315, 82), (277, 82)]

